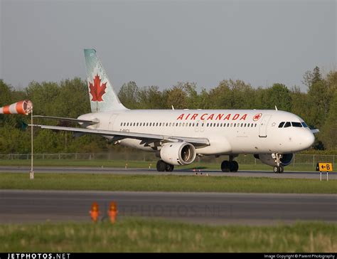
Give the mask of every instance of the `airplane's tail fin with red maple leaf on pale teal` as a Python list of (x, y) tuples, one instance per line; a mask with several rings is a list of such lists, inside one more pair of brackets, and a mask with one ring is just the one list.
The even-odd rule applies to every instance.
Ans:
[(114, 92), (107, 73), (105, 73), (102, 63), (97, 58), (95, 49), (87, 48), (84, 53), (91, 111), (127, 110)]

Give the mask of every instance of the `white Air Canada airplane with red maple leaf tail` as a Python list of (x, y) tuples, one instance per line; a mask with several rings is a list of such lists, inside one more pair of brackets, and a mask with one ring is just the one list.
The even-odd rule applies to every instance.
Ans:
[(85, 49), (91, 112), (75, 118), (81, 127), (32, 125), (43, 129), (97, 134), (114, 144), (155, 152), (157, 171), (191, 164), (196, 156), (228, 155), (223, 172), (239, 169), (235, 157), (253, 154), (274, 173), (283, 173), (295, 152), (314, 143), (314, 133), (299, 116), (282, 110), (129, 110), (119, 101), (95, 49)]

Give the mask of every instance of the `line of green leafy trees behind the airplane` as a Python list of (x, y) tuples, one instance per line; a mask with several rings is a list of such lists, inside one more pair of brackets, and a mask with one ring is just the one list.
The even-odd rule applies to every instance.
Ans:
[[(159, 90), (151, 85), (139, 88), (135, 82), (124, 83), (118, 96), (129, 109), (275, 109), (299, 115), (309, 127), (320, 129), (314, 149), (336, 153), (337, 150), (337, 71), (321, 75), (318, 67), (303, 76), (306, 93), (299, 87), (274, 83), (268, 88), (252, 87), (242, 80), (223, 80), (215, 88), (197, 90), (196, 83), (179, 82)], [(0, 80), (0, 107), (18, 100), (33, 102), (34, 115), (73, 117), (90, 112), (87, 83), (80, 78), (60, 83), (33, 81), (21, 90)], [(35, 119), (44, 124), (45, 120)], [(30, 117), (0, 115), (0, 154), (29, 153)], [(70, 126), (65, 122), (50, 125)], [(34, 129), (34, 152), (105, 152), (115, 149), (103, 137), (70, 132)], [(120, 147), (117, 147), (117, 149)]]

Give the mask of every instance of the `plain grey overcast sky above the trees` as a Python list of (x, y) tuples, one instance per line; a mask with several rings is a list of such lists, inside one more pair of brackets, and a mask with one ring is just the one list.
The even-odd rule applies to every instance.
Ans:
[(1, 1), (0, 78), (85, 78), (95, 48), (117, 90), (302, 85), (316, 65), (336, 69), (336, 1)]

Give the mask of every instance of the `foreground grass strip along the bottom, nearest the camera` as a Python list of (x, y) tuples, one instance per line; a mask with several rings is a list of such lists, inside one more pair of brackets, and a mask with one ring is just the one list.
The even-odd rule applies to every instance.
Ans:
[[(124, 218), (100, 223), (0, 225), (1, 252), (334, 253), (337, 224), (205, 226)], [(70, 255), (71, 256), (71, 255)]]

